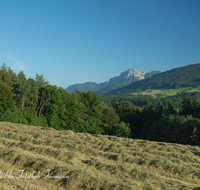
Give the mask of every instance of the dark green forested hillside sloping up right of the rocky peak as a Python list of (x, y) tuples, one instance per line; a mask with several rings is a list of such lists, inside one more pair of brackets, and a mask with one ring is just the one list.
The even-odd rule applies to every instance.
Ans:
[(129, 95), (132, 92), (147, 89), (176, 89), (181, 87), (197, 87), (200, 85), (200, 63), (178, 67), (141, 81), (131, 83), (122, 88), (112, 90), (105, 95)]

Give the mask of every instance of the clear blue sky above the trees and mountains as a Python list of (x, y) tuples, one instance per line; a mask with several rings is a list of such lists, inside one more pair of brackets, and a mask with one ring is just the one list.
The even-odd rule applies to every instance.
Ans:
[(200, 63), (200, 0), (0, 1), (0, 61), (67, 88)]

